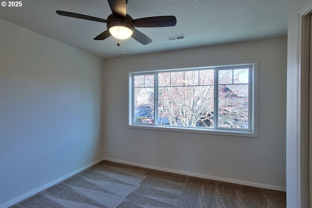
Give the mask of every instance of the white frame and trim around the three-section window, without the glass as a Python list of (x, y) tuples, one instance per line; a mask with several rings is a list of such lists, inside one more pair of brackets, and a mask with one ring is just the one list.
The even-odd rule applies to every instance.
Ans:
[[(251, 66), (251, 74), (249, 75), (249, 105), (251, 110), (249, 111), (249, 129), (232, 129), (232, 128), (195, 128), (195, 127), (181, 127), (181, 126), (164, 126), (157, 125), (156, 122), (149, 123), (138, 123), (134, 122), (134, 92), (133, 92), (133, 75), (147, 75), (155, 74), (155, 121), (157, 121), (158, 116), (158, 106), (156, 105), (157, 97), (157, 81), (156, 73), (160, 72), (174, 72), (183, 70), (200, 70), (200, 69), (211, 69), (211, 68), (222, 68), (222, 67), (240, 67), (240, 66)], [(217, 73), (215, 73), (217, 74)], [(168, 68), (149, 68), (149, 69), (132, 69), (127, 71), (127, 86), (128, 86), (128, 120), (127, 127), (135, 129), (145, 129), (145, 130), (160, 130), (160, 131), (173, 131), (173, 132), (190, 132), (190, 133), (205, 133), (205, 134), (219, 134), (219, 135), (231, 135), (231, 136), (247, 136), (247, 137), (258, 137), (258, 59), (252, 60), (239, 60), (239, 61), (229, 61), (229, 62), (218, 62), (210, 64), (202, 64), (198, 66), (180, 66), (180, 67), (170, 67)], [(215, 81), (217, 75), (215, 75)], [(216, 86), (216, 84), (215, 84)], [(217, 93), (217, 87), (215, 87), (215, 94)], [(216, 104), (218, 102), (215, 102)], [(215, 106), (217, 109), (217, 106)], [(217, 117), (217, 116), (216, 116)], [(217, 118), (216, 118), (217, 119)]]

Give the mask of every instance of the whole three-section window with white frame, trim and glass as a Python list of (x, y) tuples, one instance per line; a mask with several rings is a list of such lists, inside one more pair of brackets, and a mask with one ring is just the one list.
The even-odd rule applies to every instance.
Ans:
[(256, 66), (129, 71), (129, 126), (256, 136)]

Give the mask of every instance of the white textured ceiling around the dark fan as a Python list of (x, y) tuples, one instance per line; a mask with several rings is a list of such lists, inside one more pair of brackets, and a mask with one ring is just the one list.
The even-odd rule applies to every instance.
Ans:
[[(21, 7), (0, 6), (0, 19), (103, 58), (169, 51), (249, 40), (287, 37), (288, 0), (128, 0), (133, 18), (176, 16), (174, 27), (136, 28), (153, 40), (93, 40), (106, 23), (75, 19), (56, 10), (102, 19), (112, 13), (107, 0), (22, 0)], [(185, 39), (167, 37), (185, 35)]]

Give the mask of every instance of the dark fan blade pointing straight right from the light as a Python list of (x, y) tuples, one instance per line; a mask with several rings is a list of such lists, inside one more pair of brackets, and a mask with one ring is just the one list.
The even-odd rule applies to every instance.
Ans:
[(134, 19), (136, 27), (172, 27), (176, 25), (175, 16), (158, 16)]

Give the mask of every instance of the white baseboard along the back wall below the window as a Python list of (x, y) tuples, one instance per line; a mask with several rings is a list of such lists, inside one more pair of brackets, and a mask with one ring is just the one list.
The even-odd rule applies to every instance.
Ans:
[(197, 174), (197, 173), (193, 173), (193, 172), (186, 172), (186, 171), (180, 171), (180, 170), (160, 168), (160, 167), (144, 165), (144, 164), (139, 164), (139, 163), (133, 163), (133, 162), (123, 161), (123, 160), (117, 160), (117, 159), (112, 159), (112, 158), (107, 158), (107, 157), (104, 157), (104, 160), (117, 162), (117, 163), (123, 163), (123, 164), (127, 164), (127, 165), (138, 166), (138, 167), (142, 167), (142, 168), (153, 169), (153, 170), (162, 170), (162, 171), (166, 171), (166, 172), (178, 173), (181, 175), (194, 176), (194, 177), (198, 177), (198, 178), (206, 178), (206, 179), (223, 181), (223, 182), (228, 182), (228, 183), (233, 183), (233, 184), (240, 184), (240, 185), (245, 185), (245, 186), (257, 187), (257, 188), (263, 188), (263, 189), (279, 190), (279, 191), (285, 191), (286, 192), (285, 187), (277, 187), (277, 186), (271, 186), (271, 185), (266, 185), (266, 184), (257, 184), (257, 183), (252, 183), (252, 182), (238, 181), (238, 180), (233, 180), (233, 179), (228, 179), (228, 178), (220, 178), (220, 177), (216, 177), (216, 176)]

